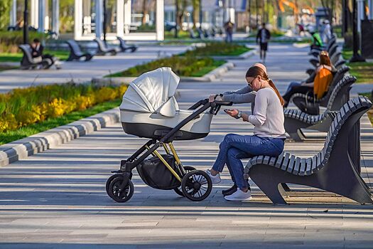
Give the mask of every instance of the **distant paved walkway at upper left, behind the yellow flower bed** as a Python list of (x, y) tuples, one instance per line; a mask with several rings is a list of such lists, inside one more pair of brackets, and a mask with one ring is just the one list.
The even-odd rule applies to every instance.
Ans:
[(118, 53), (115, 56), (94, 56), (90, 61), (64, 62), (63, 68), (56, 70), (6, 70), (0, 72), (0, 92), (13, 88), (28, 87), (31, 84), (75, 83), (89, 81), (115, 73), (165, 55), (182, 53), (188, 46), (140, 46), (135, 53)]

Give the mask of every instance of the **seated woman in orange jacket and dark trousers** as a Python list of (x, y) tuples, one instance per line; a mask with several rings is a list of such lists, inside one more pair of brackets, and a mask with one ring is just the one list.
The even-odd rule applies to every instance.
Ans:
[(320, 63), (318, 68), (316, 68), (315, 79), (313, 82), (292, 82), (288, 85), (288, 90), (286, 90), (285, 94), (282, 96), (285, 101), (283, 105), (284, 107), (288, 106), (288, 102), (290, 102), (291, 96), (294, 93), (311, 93), (312, 95), (315, 95), (317, 99), (320, 99), (326, 94), (326, 92), (328, 92), (329, 85), (333, 80), (333, 72), (335, 72), (335, 69), (330, 62), (327, 51), (320, 52), (319, 60)]

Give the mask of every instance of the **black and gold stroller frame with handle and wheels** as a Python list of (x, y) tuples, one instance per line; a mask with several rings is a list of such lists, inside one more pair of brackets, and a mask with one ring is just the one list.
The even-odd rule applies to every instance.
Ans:
[[(202, 105), (202, 107), (200, 107)], [(220, 107), (222, 105), (232, 105), (232, 102), (223, 102), (223, 101), (213, 101), (209, 102), (208, 99), (200, 100), (196, 102), (193, 106), (188, 108), (188, 110), (196, 110), (191, 115), (182, 120), (178, 125), (172, 129), (158, 129), (155, 134), (156, 139), (150, 139), (146, 144), (144, 144), (140, 149), (138, 149), (134, 154), (131, 155), (128, 159), (121, 160), (121, 166), (118, 171), (112, 171), (116, 173), (109, 177), (106, 184), (107, 194), (117, 202), (126, 202), (134, 194), (134, 185), (131, 182), (132, 179), (132, 170), (136, 168), (141, 162), (143, 162), (147, 157), (153, 155), (153, 157), (158, 157), (162, 163), (167, 167), (171, 174), (180, 181), (181, 186), (174, 189), (174, 191), (180, 196), (185, 196), (192, 201), (202, 201), (207, 196), (209, 196), (212, 190), (212, 182), (210, 176), (208, 176), (205, 171), (195, 170), (190, 166), (183, 166), (178, 157), (178, 154), (173, 146), (173, 140), (177, 139), (182, 135), (180, 129), (195, 118), (205, 112), (205, 110), (210, 108), (210, 113), (212, 115), (217, 115)], [(175, 159), (175, 164), (177, 165), (175, 171), (173, 167), (168, 164), (166, 159), (157, 151), (159, 147), (163, 147), (166, 154), (172, 154)], [(170, 147), (170, 149), (168, 149)], [(170, 152), (171, 150), (171, 152)], [(200, 188), (203, 184), (207, 184), (207, 189), (205, 194), (202, 194)], [(195, 196), (196, 194), (201, 194), (200, 196)]]

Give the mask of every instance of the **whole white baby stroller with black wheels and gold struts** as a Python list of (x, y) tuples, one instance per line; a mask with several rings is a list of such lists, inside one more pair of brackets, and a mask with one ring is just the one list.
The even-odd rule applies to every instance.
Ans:
[[(206, 137), (212, 115), (231, 102), (200, 100), (188, 110), (179, 110), (175, 100), (180, 78), (171, 68), (158, 68), (136, 78), (123, 95), (120, 105), (121, 125), (126, 134), (150, 139), (109, 177), (107, 194), (117, 202), (126, 202), (134, 194), (132, 170), (155, 189), (173, 190), (192, 201), (209, 196), (212, 182), (205, 171), (183, 166), (174, 140)], [(163, 147), (166, 154), (158, 149)], [(150, 157), (152, 156), (152, 157)], [(150, 157), (150, 158), (148, 158)]]

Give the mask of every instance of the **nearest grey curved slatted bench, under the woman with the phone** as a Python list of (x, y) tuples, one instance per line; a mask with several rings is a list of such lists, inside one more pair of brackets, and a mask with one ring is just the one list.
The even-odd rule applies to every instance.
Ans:
[(274, 204), (286, 204), (282, 184), (301, 184), (330, 191), (359, 203), (373, 203), (369, 187), (356, 169), (357, 160), (352, 159), (349, 142), (359, 141), (351, 134), (360, 117), (372, 102), (359, 96), (349, 100), (340, 109), (328, 131), (323, 149), (313, 157), (301, 158), (289, 153), (279, 157), (253, 157), (244, 169), (244, 178), (249, 177), (259, 186)]

